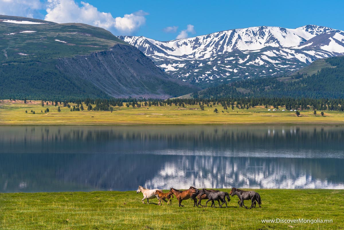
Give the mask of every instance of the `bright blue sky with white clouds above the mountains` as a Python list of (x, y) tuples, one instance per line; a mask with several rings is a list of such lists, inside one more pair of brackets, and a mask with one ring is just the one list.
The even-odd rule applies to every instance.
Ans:
[[(28, 9), (13, 7), (15, 9), (12, 10), (13, 12), (4, 12), (4, 8), (9, 8), (4, 5), (8, 3), (4, 2), (8, 1), (0, 0), (0, 13), (18, 14), (18, 16), (32, 15), (59, 23), (75, 20), (75, 22), (104, 27), (116, 35), (142, 35), (160, 41), (172, 40), (177, 36), (192, 37), (233, 28), (261, 25), (296, 28), (302, 25), (315, 24), (344, 30), (342, 18), (344, 1), (331, 1), (330, 3), (317, 0), (212, 1), (209, 3), (209, 1), (204, 0), (84, 0), (85, 3), (82, 3), (78, 0), (13, 0), (13, 3), (19, 2), (22, 6), (23, 2), (28, 1), (30, 2)], [(39, 1), (41, 5), (39, 7), (30, 5), (34, 1)], [(74, 9), (68, 12), (66, 9), (72, 8), (68, 4), (73, 4), (73, 2), (80, 9), (87, 9), (80, 10), (80, 12)], [(88, 3), (87, 6), (85, 6), (86, 3)], [(47, 5), (51, 10), (48, 14)], [(61, 5), (64, 5), (65, 8)], [(32, 8), (35, 9), (32, 10)], [(24, 12), (25, 10), (27, 12)], [(96, 11), (98, 13), (95, 13)], [(109, 15), (104, 16), (103, 12), (110, 13), (111, 17)], [(124, 16), (125, 14), (128, 16)], [(171, 28), (167, 33), (164, 28), (169, 26)]]

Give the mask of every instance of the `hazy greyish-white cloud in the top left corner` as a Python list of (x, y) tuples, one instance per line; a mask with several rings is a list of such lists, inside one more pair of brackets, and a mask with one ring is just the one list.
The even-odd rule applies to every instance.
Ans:
[(0, 0), (0, 14), (33, 18), (41, 16), (39, 10), (43, 4), (40, 0)]

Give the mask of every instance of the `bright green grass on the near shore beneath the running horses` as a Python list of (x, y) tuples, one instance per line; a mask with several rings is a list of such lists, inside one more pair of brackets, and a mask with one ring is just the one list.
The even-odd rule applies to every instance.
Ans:
[[(221, 189), (229, 192), (229, 189)], [(64, 192), (0, 194), (1, 229), (343, 229), (344, 190), (256, 189), (262, 208), (142, 204), (142, 194)], [(205, 201), (202, 201), (204, 204)], [(249, 202), (245, 201), (248, 205)], [(258, 205), (257, 205), (258, 207)], [(330, 219), (332, 223), (262, 223), (262, 219)]]

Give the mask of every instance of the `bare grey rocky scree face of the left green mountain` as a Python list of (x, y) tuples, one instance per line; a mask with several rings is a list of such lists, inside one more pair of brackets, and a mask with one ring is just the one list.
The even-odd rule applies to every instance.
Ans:
[(164, 73), (135, 47), (123, 44), (89, 55), (61, 58), (56, 67), (67, 76), (90, 81), (113, 97), (164, 99), (195, 90)]

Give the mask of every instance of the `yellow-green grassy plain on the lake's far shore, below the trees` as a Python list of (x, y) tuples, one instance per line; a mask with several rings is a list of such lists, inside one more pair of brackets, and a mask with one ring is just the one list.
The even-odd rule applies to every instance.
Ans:
[[(73, 106), (73, 103), (69, 103)], [(41, 106), (41, 101), (0, 101), (0, 125), (211, 125), (211, 124), (344, 124), (344, 113), (320, 111), (316, 116), (313, 111), (300, 111), (297, 117), (294, 111), (268, 111), (270, 108), (256, 106), (254, 108), (223, 111), (221, 105), (206, 107), (200, 110), (198, 105), (185, 105), (185, 108), (175, 106), (142, 106), (141, 108), (114, 107), (114, 111), (84, 111), (71, 112), (70, 108), (60, 105), (61, 112), (51, 105)], [(94, 107), (94, 106), (93, 106)], [(44, 110), (49, 108), (49, 113)], [(214, 113), (217, 108), (219, 113)], [(28, 113), (25, 113), (25, 110)], [(31, 113), (35, 111), (35, 114)], [(42, 111), (42, 112), (41, 112)]]

